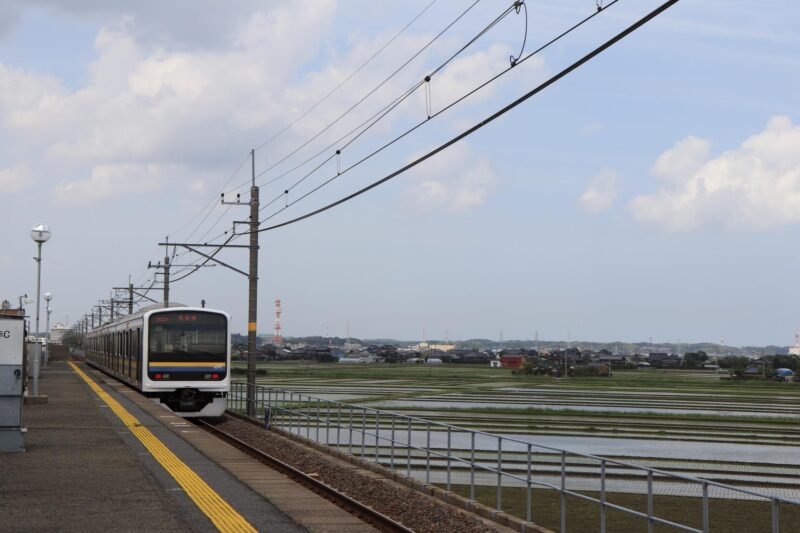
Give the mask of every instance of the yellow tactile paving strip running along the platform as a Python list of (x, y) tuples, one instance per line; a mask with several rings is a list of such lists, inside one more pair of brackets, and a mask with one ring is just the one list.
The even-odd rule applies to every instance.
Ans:
[(181, 461), (172, 451), (164, 445), (149, 429), (142, 426), (135, 416), (128, 412), (119, 402), (112, 398), (97, 383), (74, 363), (69, 363), (72, 369), (91, 387), (125, 424), (131, 433), (147, 448), (147, 451), (164, 467), (178, 485), (194, 501), (197, 507), (213, 522), (222, 532), (255, 532), (256, 529), (245, 520), (242, 515), (217, 494), (203, 479), (198, 476), (186, 463)]

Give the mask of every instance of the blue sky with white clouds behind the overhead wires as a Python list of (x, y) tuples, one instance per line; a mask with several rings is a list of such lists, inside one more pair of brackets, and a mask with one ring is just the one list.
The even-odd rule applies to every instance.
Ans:
[[(248, 201), (253, 166), (262, 227), (347, 196), (659, 5), (609, 3), (447, 108), (595, 0), (528, 1), (466, 47), (511, 3), (5, 0), (0, 299), (35, 294), (37, 223), (54, 321), (129, 277), (159, 299), (158, 243), (226, 239), (249, 212), (220, 194)], [(280, 298), (289, 336), (793, 344), (798, 20), (788, 0), (682, 0), (412, 170), (261, 232), (259, 332)], [(246, 278), (184, 252), (170, 299), (244, 331)]]

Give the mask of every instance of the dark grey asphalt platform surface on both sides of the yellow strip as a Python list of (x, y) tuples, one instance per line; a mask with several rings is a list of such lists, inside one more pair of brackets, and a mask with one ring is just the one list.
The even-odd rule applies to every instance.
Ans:
[[(254, 528), (305, 531), (157, 417), (98, 383)], [(40, 390), (49, 402), (23, 408), (27, 452), (0, 454), (0, 531), (216, 531), (65, 362), (51, 362)]]

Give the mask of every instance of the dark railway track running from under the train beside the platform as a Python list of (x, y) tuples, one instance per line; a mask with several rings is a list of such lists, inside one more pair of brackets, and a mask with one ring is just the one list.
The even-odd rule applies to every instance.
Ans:
[(218, 436), (222, 440), (228, 442), (232, 446), (242, 450), (243, 452), (247, 453), (251, 457), (263, 462), (270, 468), (273, 468), (286, 476), (290, 479), (300, 483), (301, 485), (311, 489), (312, 491), (316, 492), (320, 496), (324, 497), (330, 502), (333, 502), (335, 505), (341, 507), (345, 511), (361, 518), (365, 522), (369, 523), (371, 526), (379, 529), (380, 531), (384, 531), (386, 533), (413, 533), (413, 529), (409, 529), (408, 527), (404, 526), (400, 522), (392, 519), (389, 516), (386, 516), (372, 507), (368, 505), (364, 505), (363, 503), (359, 502), (348, 496), (347, 494), (337, 490), (326, 483), (323, 483), (319, 479), (316, 479), (314, 476), (310, 476), (305, 472), (302, 472), (295, 467), (269, 455), (258, 448), (255, 448), (248, 444), (247, 442), (239, 439), (222, 431), (221, 429), (209, 424), (205, 420), (202, 419), (195, 419), (193, 422), (200, 428), (213, 433), (214, 435)]

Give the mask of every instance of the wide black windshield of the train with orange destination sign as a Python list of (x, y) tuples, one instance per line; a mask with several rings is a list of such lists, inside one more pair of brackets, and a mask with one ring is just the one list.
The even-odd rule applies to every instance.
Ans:
[(148, 355), (151, 360), (224, 361), (228, 321), (202, 311), (170, 311), (150, 317)]

